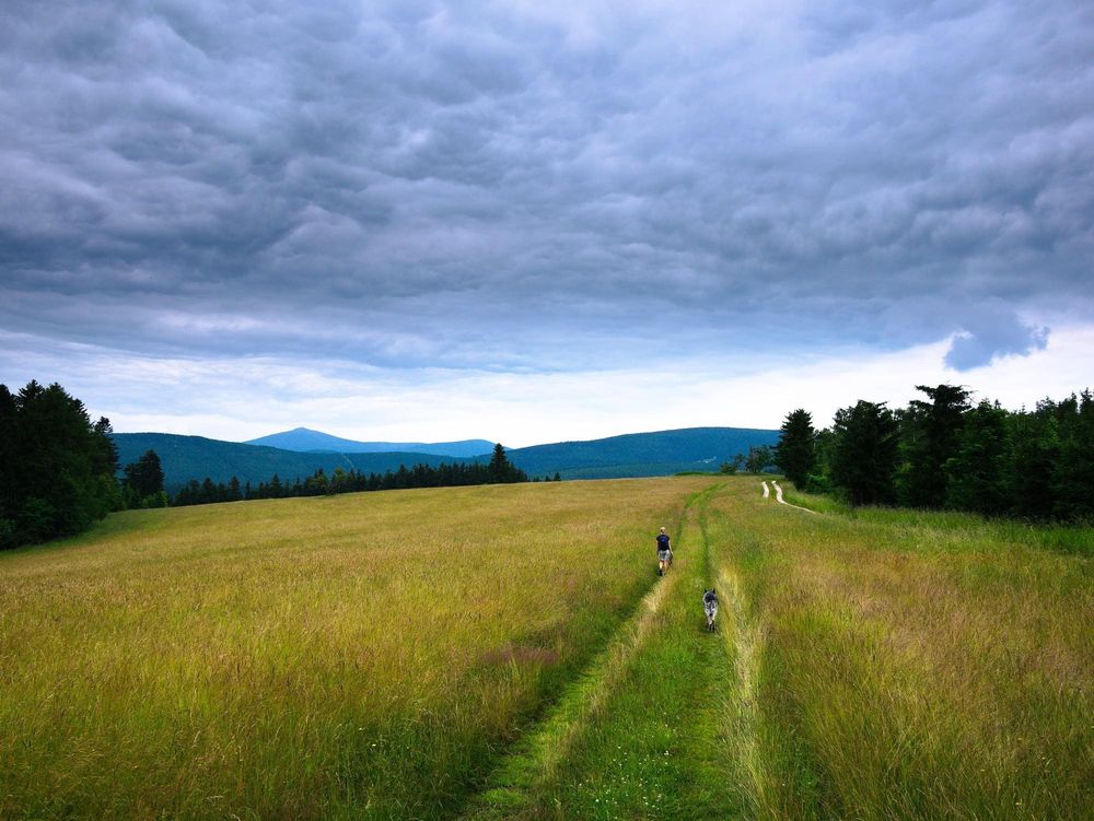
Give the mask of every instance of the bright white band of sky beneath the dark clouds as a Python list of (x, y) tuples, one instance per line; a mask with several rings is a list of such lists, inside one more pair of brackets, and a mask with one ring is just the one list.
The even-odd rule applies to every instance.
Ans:
[[(799, 407), (824, 425), (858, 399), (897, 407), (917, 384), (955, 382), (942, 361), (947, 344), (810, 356), (772, 345), (770, 353), (733, 359), (521, 374), (152, 359), (67, 345), (18, 360), (5, 352), (0, 372), (10, 387), (49, 374), (118, 431), (242, 441), (305, 425), (359, 439), (482, 437), (517, 447), (672, 427), (778, 427)], [(1017, 408), (1094, 386), (1091, 363), (1094, 327), (1062, 327), (1044, 350), (969, 371), (962, 382), (978, 397)]]

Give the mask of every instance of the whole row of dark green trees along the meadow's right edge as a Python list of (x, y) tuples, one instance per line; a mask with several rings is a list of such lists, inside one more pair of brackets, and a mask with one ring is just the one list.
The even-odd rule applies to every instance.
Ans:
[(964, 386), (917, 385), (906, 408), (859, 400), (815, 430), (787, 415), (775, 458), (802, 490), (852, 505), (898, 504), (1038, 519), (1094, 516), (1094, 396), (1033, 410), (971, 401)]

